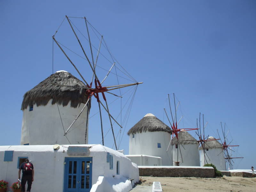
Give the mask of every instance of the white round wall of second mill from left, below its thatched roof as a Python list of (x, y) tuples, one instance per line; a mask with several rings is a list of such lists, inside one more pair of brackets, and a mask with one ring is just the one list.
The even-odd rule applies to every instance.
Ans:
[[(129, 155), (148, 155), (162, 158), (162, 165), (172, 165), (172, 150), (166, 152), (171, 134), (168, 132), (142, 132), (130, 134)], [(157, 148), (161, 143), (161, 148)]]

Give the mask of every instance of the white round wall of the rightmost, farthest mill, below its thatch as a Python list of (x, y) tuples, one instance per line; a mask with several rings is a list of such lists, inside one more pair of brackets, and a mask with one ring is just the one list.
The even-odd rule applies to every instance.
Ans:
[[(208, 151), (206, 151), (206, 160), (208, 164), (214, 164), (216, 168), (220, 171), (225, 171), (226, 166), (225, 166), (225, 159), (224, 159), (224, 153), (222, 148), (209, 148)], [(199, 150), (200, 153), (200, 166), (204, 166), (204, 151), (201, 149)], [(205, 162), (205, 164), (207, 164)]]

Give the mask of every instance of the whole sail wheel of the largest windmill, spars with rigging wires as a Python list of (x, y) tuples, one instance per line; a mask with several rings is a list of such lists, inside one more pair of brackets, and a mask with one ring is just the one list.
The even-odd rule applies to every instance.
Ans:
[[(87, 32), (87, 37), (76, 27), (76, 25), (71, 21), (71, 18), (76, 18), (78, 20), (83, 20), (83, 28), (86, 29), (85, 31)], [(114, 129), (113, 129), (113, 124), (116, 123), (119, 127), (120, 127), (120, 130), (121, 128), (123, 127), (122, 126), (122, 123), (119, 123), (110, 113), (110, 110), (109, 110), (109, 104), (107, 102), (107, 96), (105, 94), (108, 94), (108, 95), (114, 95), (118, 98), (122, 98), (122, 94), (121, 94), (121, 91), (120, 91), (120, 95), (117, 95), (113, 92), (111, 92), (112, 90), (120, 90), (121, 88), (124, 88), (124, 87), (128, 87), (128, 86), (134, 86), (136, 85), (136, 88), (134, 89), (135, 91), (132, 93), (133, 94), (133, 97), (132, 97), (132, 100), (130, 102), (130, 105), (129, 105), (129, 108), (127, 110), (131, 110), (131, 104), (133, 102), (133, 98), (135, 96), (135, 92), (137, 90), (137, 86), (138, 84), (142, 84), (143, 82), (137, 82), (120, 64), (119, 62), (115, 59), (115, 57), (113, 56), (113, 54), (109, 51), (109, 48), (108, 48), (108, 45), (106, 44), (104, 38), (103, 38), (103, 35), (101, 35), (92, 25), (91, 23), (85, 18), (85, 17), (68, 17), (67, 15), (65, 16), (65, 18), (63, 19), (64, 20), (67, 20), (68, 21), (68, 25), (70, 26), (72, 32), (73, 32), (73, 35), (75, 36), (75, 39), (77, 41), (77, 47), (80, 46), (81, 50), (82, 51), (82, 55), (79, 55), (77, 54), (75, 51), (69, 49), (67, 46), (61, 44), (57, 39), (56, 39), (56, 34), (58, 32), (58, 30), (60, 29), (60, 27), (56, 30), (55, 34), (52, 36), (52, 39), (53, 41), (52, 42), (55, 42), (57, 44), (57, 46), (60, 48), (61, 52), (64, 54), (64, 56), (66, 57), (66, 59), (68, 59), (68, 61), (73, 65), (73, 67), (75, 68), (76, 72), (79, 74), (79, 76), (82, 78), (82, 80), (84, 81), (84, 84), (86, 86), (73, 86), (73, 85), (64, 85), (64, 84), (53, 84), (53, 86), (71, 86), (71, 87), (74, 87), (74, 88), (77, 88), (77, 89), (85, 89), (86, 90), (86, 95), (87, 95), (87, 101), (86, 103), (84, 104), (84, 107), (82, 108), (82, 110), (80, 111), (79, 114), (77, 114), (76, 118), (74, 119), (74, 121), (69, 125), (69, 127), (67, 129), (64, 129), (64, 126), (63, 126), (63, 129), (64, 129), (64, 136), (67, 137), (68, 133), (70, 132), (70, 128), (74, 125), (74, 123), (76, 122), (76, 120), (79, 118), (79, 116), (82, 114), (82, 112), (84, 111), (84, 108), (86, 106), (88, 106), (88, 104), (91, 102), (92, 98), (96, 98), (97, 102), (98, 102), (98, 107), (99, 107), (99, 113), (100, 113), (100, 123), (101, 123), (101, 136), (102, 136), (102, 144), (104, 145), (104, 134), (103, 134), (103, 123), (102, 123), (102, 114), (101, 114), (101, 111), (102, 110), (105, 110), (108, 114), (108, 119), (109, 119), (109, 122), (110, 122), (110, 127), (111, 127), (111, 130), (112, 130), (112, 134), (113, 134), (113, 138), (114, 138), (114, 144), (115, 144), (115, 148), (116, 150), (118, 149), (117, 148), (117, 144), (116, 144), (116, 136), (114, 134)], [(63, 21), (61, 22), (60, 26), (63, 24)], [(99, 40), (99, 47), (96, 48), (93, 44), (92, 44), (92, 39), (91, 39), (91, 36), (90, 36), (90, 33), (89, 33), (89, 27), (91, 28), (91, 30), (94, 32), (95, 36), (97, 36), (98, 40)], [(72, 33), (71, 32), (71, 33)], [(78, 34), (81, 34), (82, 37), (84, 37), (89, 45), (87, 47), (84, 47), (82, 45), (82, 41), (81, 39), (78, 37), (79, 35)], [(80, 36), (81, 36), (80, 35)], [(65, 40), (69, 40), (69, 38), (71, 38), (71, 36), (69, 36), (68, 38), (65, 38)], [(96, 38), (95, 38), (96, 39)], [(110, 55), (110, 58), (112, 59), (112, 61), (109, 61), (106, 56), (104, 56), (101, 52), (101, 49), (105, 48), (107, 50), (107, 52), (109, 53)], [(84, 76), (82, 75), (82, 72), (78, 70), (78, 68), (76, 67), (75, 65), (75, 62), (71, 60), (71, 58), (68, 56), (68, 54), (64, 51), (64, 49), (67, 49), (68, 51), (72, 52), (72, 53), (75, 53), (77, 56), (79, 56), (80, 58), (86, 60), (84, 61), (83, 60), (83, 64), (84, 62), (86, 62), (87, 66), (89, 65), (89, 69), (92, 70), (92, 78), (89, 82), (87, 82), (84, 78)], [(79, 48), (79, 49), (80, 49)], [(93, 50), (96, 49), (97, 51), (97, 54), (94, 54), (93, 55)], [(87, 49), (87, 50), (86, 50)], [(89, 52), (89, 54), (88, 54)], [(91, 56), (89, 56), (91, 55)], [(95, 56), (95, 57), (94, 57)], [(98, 61), (100, 59), (99, 56), (103, 56), (102, 58), (105, 58), (106, 60), (108, 60), (110, 63), (111, 63), (111, 67), (109, 70), (107, 70), (107, 74), (104, 75), (104, 78), (100, 78), (100, 75), (98, 73), (96, 73), (96, 69), (99, 66), (98, 64)], [(89, 57), (91, 57), (89, 59)], [(77, 61), (77, 60), (75, 60)], [(77, 62), (78, 63), (78, 62)], [(80, 63), (79, 63), (80, 64)], [(118, 68), (116, 65), (119, 65), (120, 68)], [(83, 66), (84, 67), (84, 66)], [(120, 81), (120, 76), (117, 75), (117, 72), (116, 73), (113, 73), (111, 72), (112, 69), (119, 69), (120, 71), (123, 72), (123, 74), (126, 76), (125, 79), (128, 79), (134, 83), (129, 83), (129, 84), (119, 84), (119, 81)], [(103, 86), (103, 83), (105, 82), (106, 79), (108, 79), (109, 77), (109, 74), (112, 73), (116, 76), (117, 78), (117, 84), (116, 85), (108, 85), (108, 86)], [(100, 98), (100, 94), (102, 95), (102, 99), (104, 101), (102, 101), (102, 99)], [(103, 102), (105, 102), (105, 104), (103, 104)], [(101, 108), (102, 107), (102, 108)], [(122, 105), (121, 105), (121, 110), (122, 110)], [(130, 114), (130, 113), (129, 113)], [(125, 114), (125, 118), (127, 118), (128, 116), (128, 113)], [(87, 122), (86, 122), (86, 132), (85, 132), (85, 138), (86, 138), (86, 134), (87, 134), (87, 124), (88, 124), (88, 117), (89, 117), (89, 112), (87, 111)], [(129, 117), (129, 116), (128, 116)], [(114, 123), (113, 123), (114, 121)], [(127, 122), (126, 122), (127, 123)], [(124, 124), (124, 122), (123, 122)], [(120, 133), (121, 135), (121, 133)]]

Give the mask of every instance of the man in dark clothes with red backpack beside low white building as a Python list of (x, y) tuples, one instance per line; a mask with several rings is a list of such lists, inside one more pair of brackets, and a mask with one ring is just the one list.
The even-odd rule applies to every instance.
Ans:
[(21, 192), (25, 192), (25, 185), (28, 182), (27, 192), (30, 192), (32, 182), (34, 181), (34, 166), (29, 162), (28, 159), (20, 164), (19, 167), (19, 179), (20, 179), (20, 171), (22, 170), (22, 178), (21, 178)]

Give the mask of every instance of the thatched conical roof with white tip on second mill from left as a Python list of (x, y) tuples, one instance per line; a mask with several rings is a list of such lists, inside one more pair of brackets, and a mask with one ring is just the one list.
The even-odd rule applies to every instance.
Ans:
[(136, 123), (129, 131), (128, 135), (134, 134), (137, 132), (155, 132), (155, 131), (164, 131), (172, 134), (172, 130), (168, 125), (164, 124), (156, 116), (151, 113), (145, 115), (138, 123)]

